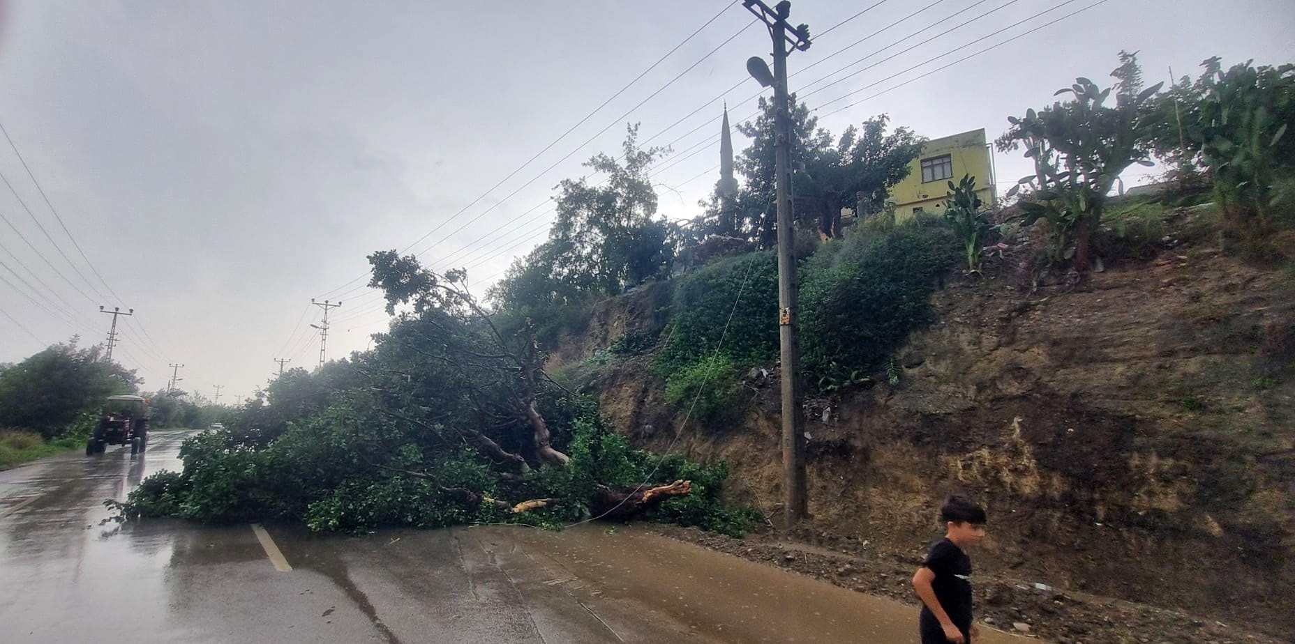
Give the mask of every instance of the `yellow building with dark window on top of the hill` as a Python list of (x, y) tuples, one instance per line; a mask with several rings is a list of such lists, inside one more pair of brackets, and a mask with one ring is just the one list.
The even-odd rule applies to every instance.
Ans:
[(891, 186), (895, 220), (904, 221), (918, 212), (944, 212), (949, 181), (957, 184), (962, 175), (975, 177), (976, 193), (987, 207), (993, 203), (993, 160), (987, 144), (984, 128), (927, 141), (922, 154), (909, 164), (908, 177)]

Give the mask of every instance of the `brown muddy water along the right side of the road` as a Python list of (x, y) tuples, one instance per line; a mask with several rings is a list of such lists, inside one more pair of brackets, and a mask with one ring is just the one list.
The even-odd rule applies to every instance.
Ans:
[[(917, 609), (642, 529), (487, 528), (561, 565), (574, 592), (637, 603), (719, 641), (913, 641)], [(576, 579), (572, 579), (576, 578)], [(1019, 643), (987, 631), (988, 644)]]

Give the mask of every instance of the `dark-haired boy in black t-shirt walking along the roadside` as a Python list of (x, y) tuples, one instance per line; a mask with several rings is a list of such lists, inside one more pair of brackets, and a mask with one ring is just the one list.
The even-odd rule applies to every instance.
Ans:
[(984, 510), (952, 495), (940, 506), (944, 538), (932, 543), (913, 588), (922, 599), (922, 644), (971, 644), (980, 630), (971, 621), (971, 557), (962, 548), (984, 538)]

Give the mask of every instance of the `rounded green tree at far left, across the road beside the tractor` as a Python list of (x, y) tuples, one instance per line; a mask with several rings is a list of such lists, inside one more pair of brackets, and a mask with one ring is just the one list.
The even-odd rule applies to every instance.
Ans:
[(0, 423), (49, 438), (109, 396), (135, 393), (133, 370), (102, 360), (102, 347), (80, 349), (76, 339), (56, 344), (0, 371)]

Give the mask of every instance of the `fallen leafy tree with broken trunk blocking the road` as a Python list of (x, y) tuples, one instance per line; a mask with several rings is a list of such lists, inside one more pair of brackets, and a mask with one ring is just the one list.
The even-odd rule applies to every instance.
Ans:
[(635, 517), (745, 526), (719, 500), (723, 464), (631, 449), (596, 402), (544, 372), (530, 321), (497, 323), (462, 273), (394, 252), (370, 261), (387, 310), (407, 309), (374, 347), (272, 383), (228, 431), (188, 441), (183, 472), (150, 478), (127, 515), (317, 530)]

